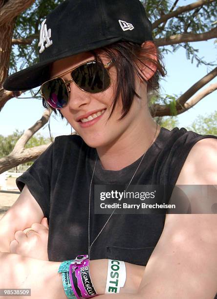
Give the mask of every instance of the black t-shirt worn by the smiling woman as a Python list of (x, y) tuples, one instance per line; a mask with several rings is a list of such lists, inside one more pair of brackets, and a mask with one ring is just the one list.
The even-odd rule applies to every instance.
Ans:
[[(175, 185), (195, 143), (213, 135), (199, 135), (185, 128), (161, 128), (148, 149), (131, 184)], [(96, 158), (78, 135), (59, 136), (34, 164), (17, 179), (24, 184), (49, 221), (48, 257), (63, 261), (88, 254), (89, 186)], [(140, 158), (120, 171), (96, 164), (91, 189), (90, 244), (109, 218), (94, 214), (94, 184), (129, 183)], [(90, 259), (113, 258), (145, 266), (164, 228), (165, 214), (113, 214), (93, 243)]]

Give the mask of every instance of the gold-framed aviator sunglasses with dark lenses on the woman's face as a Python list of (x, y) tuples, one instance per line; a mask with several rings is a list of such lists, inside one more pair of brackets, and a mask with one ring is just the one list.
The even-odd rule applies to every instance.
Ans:
[[(88, 93), (102, 92), (109, 88), (111, 78), (108, 71), (112, 64), (102, 64), (98, 60), (90, 60), (80, 64), (56, 78), (44, 82), (41, 94), (44, 100), (55, 109), (66, 107), (69, 102), (70, 83), (74, 82), (81, 90)], [(67, 81), (62, 76), (70, 73), (71, 80)]]

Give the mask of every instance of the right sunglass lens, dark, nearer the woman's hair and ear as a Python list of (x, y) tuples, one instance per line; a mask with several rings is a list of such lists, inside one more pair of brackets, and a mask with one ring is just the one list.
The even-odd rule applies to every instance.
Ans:
[(90, 93), (102, 92), (110, 85), (108, 70), (99, 61), (78, 66), (71, 76), (75, 84)]

